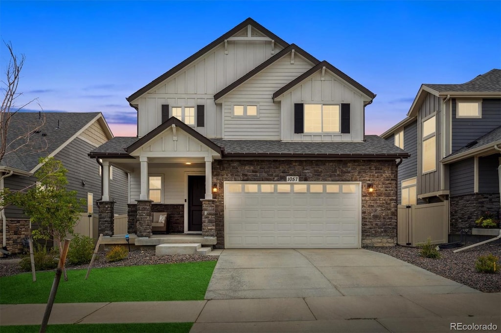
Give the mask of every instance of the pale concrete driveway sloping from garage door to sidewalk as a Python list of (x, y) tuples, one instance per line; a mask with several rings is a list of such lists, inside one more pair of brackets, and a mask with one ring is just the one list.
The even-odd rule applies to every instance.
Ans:
[(389, 255), (356, 249), (225, 249), (206, 299), (480, 291)]

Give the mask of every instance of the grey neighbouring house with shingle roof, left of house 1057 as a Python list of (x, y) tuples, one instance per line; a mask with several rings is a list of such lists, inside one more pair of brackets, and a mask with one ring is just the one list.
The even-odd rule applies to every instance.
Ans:
[[(19, 138), (19, 139), (17, 139)], [(87, 154), (113, 138), (101, 112), (17, 112), (8, 127), (9, 147), (0, 161), (0, 187), (21, 190), (33, 186), (40, 157), (53, 156), (68, 169), (68, 189), (85, 199), (87, 212), (97, 212), (101, 197), (100, 166)], [(127, 212), (127, 174), (114, 168), (110, 195), (116, 213)], [(24, 236), (30, 234), (29, 219), (21, 208), (2, 210), (2, 244), (12, 252), (23, 250)], [(87, 213), (85, 214), (87, 216)], [(7, 232), (5, 232), (7, 230)]]

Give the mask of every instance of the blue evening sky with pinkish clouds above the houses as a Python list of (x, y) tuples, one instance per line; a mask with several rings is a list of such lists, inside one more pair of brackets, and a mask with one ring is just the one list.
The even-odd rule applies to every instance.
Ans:
[[(247, 17), (376, 93), (368, 134), (404, 118), (421, 83), (501, 68), (501, 1), (2, 0), (0, 34), (26, 55), (19, 102), (101, 111), (135, 136), (125, 97)], [(0, 56), (5, 71), (5, 46)]]

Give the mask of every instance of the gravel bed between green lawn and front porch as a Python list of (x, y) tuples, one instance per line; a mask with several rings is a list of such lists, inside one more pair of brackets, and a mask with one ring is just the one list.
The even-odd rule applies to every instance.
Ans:
[[(132, 250), (129, 252), (127, 258), (108, 262), (106, 261), (106, 252), (99, 251), (98, 256), (94, 260), (93, 268), (103, 267), (121, 267), (121, 266), (135, 266), (135, 265), (152, 265), (158, 263), (172, 263), (172, 262), (194, 262), (194, 261), (210, 261), (217, 260), (219, 255), (191, 255), (191, 254), (176, 254), (176, 255), (155, 255), (155, 250)], [(19, 258), (1, 258), (0, 259), (0, 276), (9, 276), (22, 273), (19, 268)], [(87, 269), (89, 264), (72, 265), (66, 264), (66, 269)]]

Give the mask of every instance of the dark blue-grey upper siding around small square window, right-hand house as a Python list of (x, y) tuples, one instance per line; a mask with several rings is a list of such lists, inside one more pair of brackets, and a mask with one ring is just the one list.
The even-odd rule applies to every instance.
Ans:
[(451, 152), (461, 149), (469, 142), (501, 126), (501, 99), (483, 98), (481, 107), (481, 118), (456, 118), (456, 99), (452, 98)]

